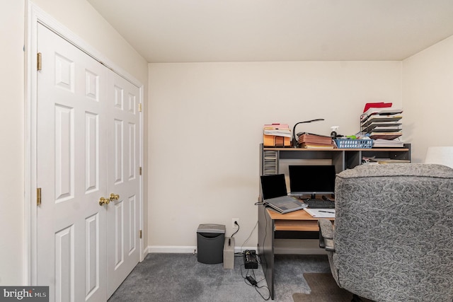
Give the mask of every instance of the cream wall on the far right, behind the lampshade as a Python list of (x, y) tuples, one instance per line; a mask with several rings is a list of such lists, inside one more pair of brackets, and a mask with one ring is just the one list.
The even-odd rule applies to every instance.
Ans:
[(428, 146), (453, 146), (453, 36), (403, 61), (403, 107), (413, 162)]

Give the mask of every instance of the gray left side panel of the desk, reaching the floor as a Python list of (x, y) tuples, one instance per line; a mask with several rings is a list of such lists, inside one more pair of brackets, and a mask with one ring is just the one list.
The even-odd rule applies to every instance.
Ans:
[(274, 221), (263, 205), (258, 206), (258, 254), (270, 298), (274, 299)]

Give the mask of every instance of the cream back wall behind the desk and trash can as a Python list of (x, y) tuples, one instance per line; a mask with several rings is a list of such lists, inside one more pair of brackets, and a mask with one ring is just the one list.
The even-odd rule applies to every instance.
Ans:
[[(263, 124), (355, 134), (365, 103), (401, 106), (401, 62), (149, 64), (149, 245), (196, 245), (200, 223), (257, 221)], [(256, 246), (256, 231), (244, 246)]]

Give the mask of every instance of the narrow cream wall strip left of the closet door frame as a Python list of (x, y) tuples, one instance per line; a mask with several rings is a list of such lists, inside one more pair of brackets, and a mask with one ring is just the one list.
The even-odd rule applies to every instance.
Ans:
[(23, 30), (24, 2), (0, 10), (0, 284), (23, 282)]

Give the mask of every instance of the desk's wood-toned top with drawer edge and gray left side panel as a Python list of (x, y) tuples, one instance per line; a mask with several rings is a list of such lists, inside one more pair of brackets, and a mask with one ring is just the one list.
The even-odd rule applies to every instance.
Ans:
[(271, 299), (274, 299), (275, 231), (319, 231), (318, 218), (312, 217), (304, 210), (279, 214), (263, 205), (258, 206), (258, 254)]

